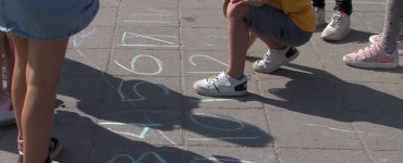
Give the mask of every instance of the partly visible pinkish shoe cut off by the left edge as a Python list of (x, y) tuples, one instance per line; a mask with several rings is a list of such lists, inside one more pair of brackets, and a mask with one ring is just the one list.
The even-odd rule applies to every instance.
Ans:
[(11, 98), (4, 93), (0, 99), (0, 126), (15, 123), (14, 112), (12, 111)]

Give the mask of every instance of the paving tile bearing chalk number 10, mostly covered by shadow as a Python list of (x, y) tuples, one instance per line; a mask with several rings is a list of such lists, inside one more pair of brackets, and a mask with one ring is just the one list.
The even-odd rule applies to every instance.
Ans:
[(272, 137), (264, 110), (197, 109), (186, 114), (186, 146), (267, 147)]

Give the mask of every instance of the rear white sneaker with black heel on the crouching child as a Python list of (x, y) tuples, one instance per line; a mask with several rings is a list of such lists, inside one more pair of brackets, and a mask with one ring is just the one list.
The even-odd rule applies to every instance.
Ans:
[(294, 47), (286, 47), (281, 50), (270, 49), (270, 53), (268, 52), (261, 60), (256, 61), (253, 68), (260, 73), (271, 73), (294, 60), (298, 57), (298, 50)]

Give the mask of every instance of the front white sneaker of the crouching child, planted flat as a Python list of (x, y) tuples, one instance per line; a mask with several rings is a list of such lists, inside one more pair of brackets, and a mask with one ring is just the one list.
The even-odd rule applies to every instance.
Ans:
[(209, 97), (244, 96), (246, 93), (246, 84), (247, 78), (245, 75), (241, 79), (235, 79), (222, 72), (216, 76), (197, 80), (193, 88), (197, 93)]

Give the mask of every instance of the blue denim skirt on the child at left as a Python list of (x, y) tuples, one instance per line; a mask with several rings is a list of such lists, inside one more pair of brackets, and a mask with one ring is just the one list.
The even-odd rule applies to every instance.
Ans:
[(98, 0), (0, 0), (0, 30), (33, 40), (59, 40), (87, 27), (98, 9)]

